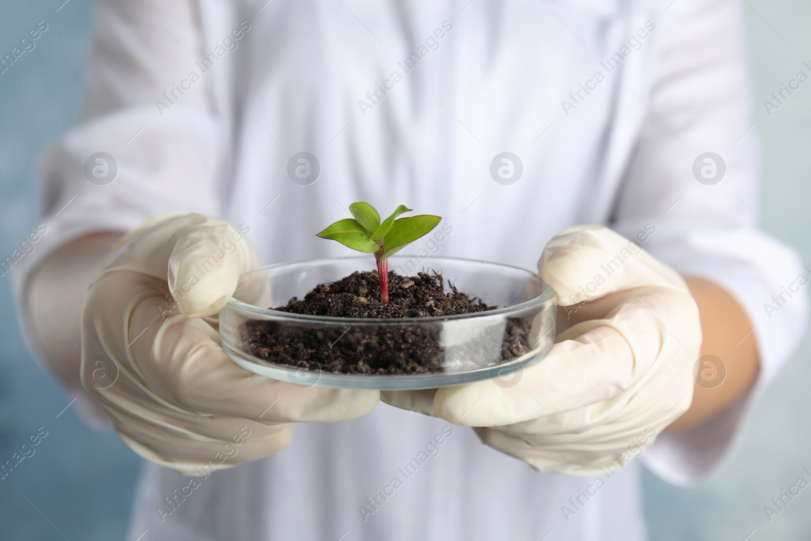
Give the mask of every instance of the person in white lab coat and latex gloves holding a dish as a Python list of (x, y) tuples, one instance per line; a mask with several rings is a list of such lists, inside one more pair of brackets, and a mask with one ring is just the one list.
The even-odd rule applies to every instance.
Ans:
[[(637, 462), (605, 466), (706, 476), (800, 340), (805, 299), (784, 292), (805, 271), (757, 230), (737, 0), (101, 0), (96, 28), (83, 118), (43, 161), (47, 233), (13, 277), (38, 357), (151, 461), (129, 539), (644, 539)], [(309, 177), (289, 174), (300, 152)], [(230, 363), (187, 316), (240, 270), (346, 255), (314, 234), (356, 200), (442, 216), (443, 255), (543, 252), (590, 330), (513, 389), (387, 404)], [(571, 253), (617, 242), (584, 223), (645, 249), (611, 294), (577, 297), (594, 273)], [(217, 284), (169, 296), (231, 235)], [(726, 380), (691, 406), (700, 344)]]

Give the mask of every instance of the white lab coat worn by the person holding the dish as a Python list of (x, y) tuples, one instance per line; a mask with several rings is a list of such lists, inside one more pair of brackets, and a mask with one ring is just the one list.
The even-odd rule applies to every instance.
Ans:
[[(171, 211), (246, 224), (264, 263), (347, 255), (314, 233), (367, 200), (442, 216), (453, 233), (427, 252), (526, 268), (566, 226), (629, 237), (652, 226), (643, 247), (749, 313), (762, 361), (750, 401), (789, 357), (805, 299), (763, 304), (808, 271), (757, 230), (738, 2), (265, 2), (100, 2), (83, 122), (45, 157), (49, 233), (20, 262), (18, 291), (59, 244)], [(713, 185), (693, 175), (708, 151), (726, 165)], [(88, 182), (93, 152), (114, 157), (114, 182)], [(317, 157), (316, 182), (287, 174), (297, 152)], [(521, 160), (513, 184), (491, 177), (500, 152)], [(732, 407), (660, 436), (642, 459), (688, 483), (723, 456), (742, 416)], [(148, 464), (130, 539), (644, 538), (634, 463), (598, 489), (451, 427), (438, 455), (400, 474), (446, 426), (386, 405), (299, 425), (280, 455), (217, 471), (168, 515), (158, 508), (189, 479)], [(402, 486), (381, 500), (394, 477)]]

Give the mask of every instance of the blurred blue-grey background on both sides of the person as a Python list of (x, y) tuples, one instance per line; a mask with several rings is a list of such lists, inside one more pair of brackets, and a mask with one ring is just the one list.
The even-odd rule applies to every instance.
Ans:
[[(797, 71), (809, 73), (803, 62), (811, 64), (811, 2), (742, 1), (749, 19), (754, 131), (763, 148), (760, 217), (811, 262), (811, 85), (771, 114), (763, 105)], [(671, 2), (662, 0), (663, 9)], [(3, 54), (37, 21), (49, 25), (35, 49), (0, 74), (3, 257), (39, 223), (37, 155), (73, 127), (79, 113), (94, 3), (0, 0)], [(0, 283), (0, 460), (18, 452), (39, 427), (48, 431), (36, 453), (0, 479), (0, 539), (122, 539), (140, 459), (113, 432), (94, 432), (78, 419), (73, 397), (28, 354), (8, 277), (0, 281), (5, 281)], [(809, 356), (806, 337), (751, 411), (730, 456), (706, 482), (677, 488), (643, 475), (650, 539), (809, 539), (811, 492), (801, 492), (771, 522), (763, 509), (800, 475), (809, 477), (802, 471), (811, 470)]]

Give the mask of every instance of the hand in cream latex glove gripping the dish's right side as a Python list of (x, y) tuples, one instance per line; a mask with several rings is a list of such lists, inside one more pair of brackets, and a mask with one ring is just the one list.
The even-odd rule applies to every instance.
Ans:
[(602, 226), (556, 235), (538, 266), (571, 319), (561, 313), (555, 346), (517, 384), (483, 380), (381, 397), (477, 427), (485, 444), (536, 470), (616, 470), (689, 408), (698, 308), (672, 268)]

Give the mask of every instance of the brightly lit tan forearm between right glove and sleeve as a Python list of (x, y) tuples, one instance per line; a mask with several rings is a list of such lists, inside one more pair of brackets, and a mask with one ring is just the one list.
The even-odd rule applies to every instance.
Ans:
[(674, 432), (697, 427), (726, 410), (749, 391), (760, 370), (752, 324), (736, 299), (714, 282), (685, 280), (702, 320), (701, 356), (720, 359), (726, 376), (717, 386), (717, 382), (695, 385), (690, 409), (668, 427)]

